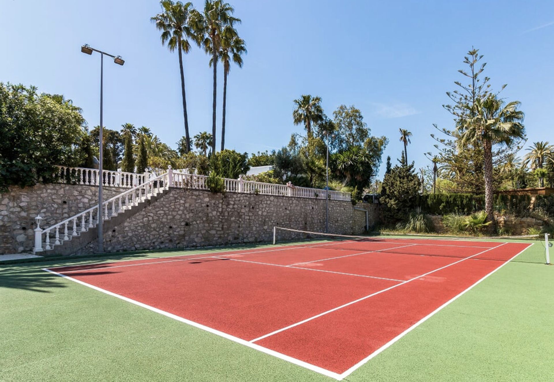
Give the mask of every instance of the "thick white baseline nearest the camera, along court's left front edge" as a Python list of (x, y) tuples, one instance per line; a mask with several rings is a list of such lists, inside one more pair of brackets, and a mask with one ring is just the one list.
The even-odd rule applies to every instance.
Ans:
[(106, 291), (106, 289), (102, 289), (102, 288), (96, 287), (96, 286), (94, 286), (94, 285), (92, 285), (92, 284), (85, 283), (85, 282), (80, 281), (80, 280), (78, 280), (78, 279), (75, 279), (75, 278), (73, 278), (73, 277), (66, 276), (65, 274), (58, 273), (58, 272), (54, 272), (54, 271), (50, 271), (50, 269), (48, 269), (48, 268), (43, 268), (43, 271), (50, 272), (50, 273), (53, 273), (53, 274), (57, 274), (58, 276), (61, 276), (61, 277), (63, 277), (63, 278), (66, 278), (66, 279), (69, 279), (69, 280), (74, 281), (74, 282), (76, 282), (76, 283), (79, 283), (79, 284), (81, 284), (81, 285), (84, 285), (85, 287), (89, 287), (89, 288), (95, 289), (96, 291), (109, 294), (110, 296), (120, 298), (120, 299), (122, 299), (122, 300), (124, 300), (124, 301), (126, 301), (126, 302), (130, 302), (131, 304), (135, 304), (135, 305), (138, 305), (139, 307), (146, 308), (146, 309), (148, 309), (148, 310), (152, 310), (152, 312), (156, 312), (156, 313), (163, 314), (163, 315), (165, 315), (166, 317), (169, 317), (169, 318), (172, 318), (172, 319), (174, 319), (174, 320), (177, 320), (177, 321), (180, 321), (180, 322), (183, 322), (183, 323), (192, 325), (193, 327), (196, 327), (196, 328), (199, 328), (199, 329), (202, 329), (202, 330), (206, 330), (206, 332), (219, 335), (220, 337), (223, 337), (223, 338), (230, 339), (230, 340), (232, 340), (232, 341), (234, 341), (234, 342), (237, 342), (237, 343), (239, 343), (239, 344), (241, 344), (241, 345), (245, 345), (245, 346), (247, 346), (247, 347), (249, 347), (249, 348), (252, 348), (252, 349), (255, 349), (255, 350), (259, 350), (260, 352), (263, 352), (263, 353), (265, 353), (265, 354), (273, 355), (273, 356), (275, 356), (275, 357), (277, 357), (277, 358), (280, 358), (280, 359), (282, 359), (282, 360), (288, 361), (288, 362), (293, 363), (293, 364), (295, 364), (295, 365), (302, 366), (303, 368), (306, 368), (306, 369), (315, 371), (316, 373), (320, 373), (320, 374), (329, 376), (329, 377), (334, 378), (334, 379), (336, 379), (336, 380), (341, 380), (341, 379), (342, 379), (342, 378), (340, 377), (340, 375), (339, 375), (338, 373), (335, 373), (334, 371), (330, 371), (330, 370), (327, 370), (327, 369), (324, 369), (324, 368), (320, 368), (319, 366), (309, 364), (309, 363), (307, 363), (307, 362), (305, 362), (305, 361), (301, 361), (301, 360), (296, 359), (296, 358), (293, 358), (293, 357), (291, 357), (291, 356), (289, 356), (289, 355), (285, 355), (285, 354), (282, 354), (282, 353), (279, 353), (279, 352), (275, 352), (275, 350), (271, 350), (271, 349), (268, 349), (268, 348), (264, 348), (263, 346), (260, 346), (260, 345), (257, 345), (257, 344), (249, 343), (247, 340), (244, 340), (244, 339), (242, 339), (242, 338), (238, 338), (238, 337), (235, 337), (234, 335), (227, 334), (227, 333), (224, 333), (224, 332), (220, 332), (220, 331), (217, 330), (217, 329), (213, 329), (213, 328), (207, 327), (206, 325), (202, 325), (202, 324), (199, 324), (199, 323), (197, 323), (197, 322), (188, 320), (188, 319), (186, 319), (186, 318), (179, 317), (179, 316), (176, 315), (176, 314), (169, 313), (169, 312), (166, 312), (165, 310), (161, 310), (161, 309), (152, 307), (151, 305), (147, 305), (147, 304), (145, 304), (145, 303), (141, 303), (141, 302), (139, 302), (139, 301), (137, 301), (137, 300), (134, 300), (134, 299), (131, 299), (131, 298), (129, 298), (129, 297), (121, 296), (121, 294), (117, 294), (117, 293), (114, 293), (114, 292)]

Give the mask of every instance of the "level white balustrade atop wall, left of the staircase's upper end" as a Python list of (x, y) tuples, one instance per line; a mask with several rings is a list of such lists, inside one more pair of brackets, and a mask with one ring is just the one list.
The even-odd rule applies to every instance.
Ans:
[[(56, 166), (61, 183), (75, 183), (78, 185), (98, 186), (100, 175), (98, 169), (85, 169), (84, 167)], [(150, 173), (135, 174), (123, 171), (102, 171), (102, 185), (113, 187), (132, 188), (143, 184), (150, 177)]]

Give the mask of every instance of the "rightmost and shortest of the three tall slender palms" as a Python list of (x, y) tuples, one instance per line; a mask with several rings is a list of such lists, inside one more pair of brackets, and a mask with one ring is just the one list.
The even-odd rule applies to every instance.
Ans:
[[(239, 68), (242, 68), (242, 55), (248, 53), (244, 40), (236, 34), (232, 27), (226, 27), (221, 39), (219, 57), (223, 63), (223, 116), (221, 119), (221, 150), (225, 150), (225, 106), (227, 105), (227, 75), (231, 69), (230, 61), (233, 60)], [(210, 60), (210, 65), (213, 58)]]

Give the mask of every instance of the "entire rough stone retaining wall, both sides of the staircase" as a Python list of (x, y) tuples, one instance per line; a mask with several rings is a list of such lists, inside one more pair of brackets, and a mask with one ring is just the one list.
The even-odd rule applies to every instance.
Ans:
[[(105, 187), (107, 200), (127, 189)], [(273, 240), (273, 226), (325, 231), (325, 200), (248, 193), (213, 194), (171, 189), (167, 195), (104, 234), (104, 250), (214, 246)], [(34, 217), (45, 228), (96, 204), (98, 189), (80, 185), (12, 187), (0, 194), (0, 254), (30, 252), (34, 245)], [(377, 220), (377, 205), (359, 203), (368, 210), (370, 227)], [(329, 201), (329, 231), (360, 234), (364, 211), (350, 201)], [(283, 236), (282, 239), (291, 237)], [(302, 238), (296, 235), (294, 238)], [(96, 252), (96, 243), (79, 253)]]

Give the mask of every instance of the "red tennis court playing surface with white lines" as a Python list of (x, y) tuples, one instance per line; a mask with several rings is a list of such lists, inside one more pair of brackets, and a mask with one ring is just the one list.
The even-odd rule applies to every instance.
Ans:
[(45, 270), (341, 380), (529, 246), (343, 241)]

